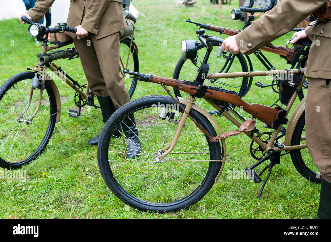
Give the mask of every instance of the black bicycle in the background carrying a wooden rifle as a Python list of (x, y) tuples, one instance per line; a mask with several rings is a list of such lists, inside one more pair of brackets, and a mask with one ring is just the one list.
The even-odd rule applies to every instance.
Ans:
[[(252, 8), (254, 1), (250, 1), (250, 5), (248, 7), (240, 7), (239, 9), (233, 9), (231, 12), (232, 19), (240, 19), (241, 21), (245, 22), (243, 29), (247, 28), (249, 25), (252, 24), (252, 21), (255, 19), (254, 13), (260, 12), (265, 13), (266, 11), (271, 10), (275, 6), (275, 1), (271, 1), (270, 5), (267, 8)], [(251, 13), (248, 17), (247, 21), (245, 21), (245, 17), (243, 16), (243, 12)], [(311, 19), (312, 20), (312, 19)], [(200, 28), (204, 28), (207, 30), (212, 30), (215, 32), (228, 36), (236, 35), (240, 31), (214, 26), (205, 23), (199, 23), (191, 21), (190, 19), (187, 20), (189, 23), (194, 23), (195, 25), (199, 26)], [(294, 28), (292, 31), (301, 31), (304, 30), (303, 28)], [(197, 73), (197, 66), (199, 65), (200, 61), (203, 61), (204, 53), (206, 50), (205, 47), (201, 43), (197, 43), (198, 49), (198, 56), (197, 61), (193, 63), (189, 59), (185, 59), (185, 57), (181, 57), (173, 72), (173, 79), (180, 79), (180, 80), (188, 80), (193, 81), (195, 79)], [(260, 60), (266, 70), (276, 70), (275, 66), (267, 59), (267, 57), (262, 53), (262, 51), (271, 52), (278, 54), (280, 57), (286, 60), (286, 63), (290, 64), (289, 69), (298, 69), (301, 67), (301, 56), (303, 54), (307, 54), (309, 51), (309, 46), (311, 42), (305, 41), (301, 42), (300, 45), (297, 43), (291, 50), (285, 48), (283, 46), (274, 46), (272, 43), (267, 44), (265, 47), (260, 48), (258, 51), (254, 52), (254, 55)], [(242, 53), (239, 54), (231, 54), (225, 51), (222, 51), (221, 47), (218, 43), (212, 42), (212, 45), (215, 46), (213, 51), (211, 52), (208, 64), (210, 66), (209, 72), (210, 73), (228, 73), (228, 72), (246, 72), (246, 71), (253, 71), (253, 64), (251, 61), (250, 56), (245, 56)], [(182, 47), (184, 48), (184, 47)], [(194, 47), (195, 48), (195, 47)], [(305, 50), (305, 51), (303, 51)], [(239, 77), (235, 79), (210, 79), (208, 82), (209, 86), (217, 86), (223, 87), (226, 89), (231, 89), (238, 92), (240, 97), (244, 97), (249, 89), (251, 88), (253, 82), (253, 77)], [(279, 93), (279, 82), (277, 79), (272, 79), (271, 84), (262, 84), (260, 82), (255, 83), (258, 87), (268, 87), (271, 86), (274, 92)], [(308, 87), (308, 81), (305, 81), (302, 92), (299, 93), (299, 99), (302, 100), (305, 96), (306, 89)], [(179, 91), (177, 88), (173, 88), (174, 94), (177, 97), (187, 97), (187, 93)], [(279, 99), (277, 99), (271, 106), (274, 106)], [(204, 103), (199, 103), (199, 105), (204, 105)], [(210, 107), (204, 107), (209, 108)], [(218, 114), (216, 110), (209, 110), (210, 114)]]

